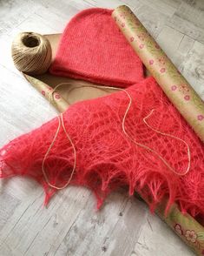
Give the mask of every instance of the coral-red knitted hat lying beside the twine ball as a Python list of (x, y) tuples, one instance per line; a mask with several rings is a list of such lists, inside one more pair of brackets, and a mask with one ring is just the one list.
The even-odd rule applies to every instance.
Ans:
[(92, 8), (73, 17), (63, 31), (49, 72), (121, 87), (141, 81), (141, 60), (111, 13), (112, 10)]

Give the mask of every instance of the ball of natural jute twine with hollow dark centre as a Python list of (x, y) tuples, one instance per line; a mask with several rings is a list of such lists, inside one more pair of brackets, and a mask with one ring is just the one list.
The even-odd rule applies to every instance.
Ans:
[(49, 40), (37, 33), (18, 34), (12, 43), (11, 53), (16, 68), (30, 75), (45, 73), (51, 64)]

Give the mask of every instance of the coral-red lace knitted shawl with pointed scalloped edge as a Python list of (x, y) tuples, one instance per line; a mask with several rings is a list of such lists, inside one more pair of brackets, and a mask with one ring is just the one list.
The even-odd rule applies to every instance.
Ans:
[[(64, 125), (76, 147), (76, 172), (70, 184), (89, 187), (98, 199), (121, 186), (129, 194), (139, 192), (151, 209), (168, 197), (167, 210), (176, 202), (182, 212), (204, 219), (204, 147), (194, 131), (176, 111), (153, 77), (127, 89), (133, 102), (125, 121), (128, 136), (157, 152), (178, 174), (188, 166), (186, 145), (190, 149), (189, 172), (172, 172), (154, 152), (135, 145), (122, 130), (122, 118), (128, 106), (124, 91), (73, 104), (63, 113)], [(155, 109), (143, 122), (150, 111)], [(46, 192), (45, 204), (56, 189), (46, 183), (42, 162), (58, 126), (54, 118), (3, 146), (0, 151), (1, 178), (27, 175), (41, 183)], [(74, 154), (63, 128), (45, 160), (45, 171), (52, 185), (63, 186), (73, 168)]]

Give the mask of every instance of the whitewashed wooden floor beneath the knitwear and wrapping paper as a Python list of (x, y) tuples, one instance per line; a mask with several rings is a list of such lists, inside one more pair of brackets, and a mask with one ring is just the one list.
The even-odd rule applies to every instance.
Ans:
[[(79, 10), (126, 3), (204, 99), (203, 0), (0, 0), (0, 146), (56, 115), (16, 71), (10, 42), (19, 31), (62, 32)], [(193, 255), (146, 205), (113, 193), (100, 212), (86, 189), (69, 187), (43, 208), (29, 179), (0, 183), (0, 256)]]

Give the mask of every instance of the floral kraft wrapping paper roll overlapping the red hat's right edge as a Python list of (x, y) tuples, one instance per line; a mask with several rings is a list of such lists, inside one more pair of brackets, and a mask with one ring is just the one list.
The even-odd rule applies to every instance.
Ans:
[(117, 7), (112, 17), (169, 100), (204, 142), (204, 103), (201, 98), (128, 6)]

